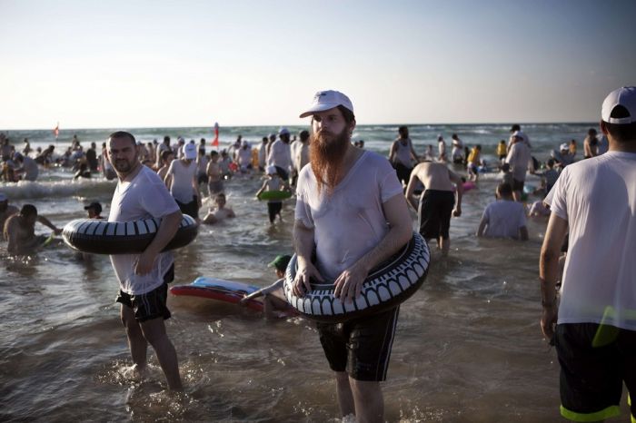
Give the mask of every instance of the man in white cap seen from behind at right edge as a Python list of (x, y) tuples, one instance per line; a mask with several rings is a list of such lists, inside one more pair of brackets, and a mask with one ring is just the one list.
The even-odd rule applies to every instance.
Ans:
[(566, 167), (545, 200), (552, 214), (539, 266), (541, 324), (561, 364), (561, 415), (618, 416), (624, 382), (636, 421), (636, 87), (605, 98), (601, 131), (609, 152)]

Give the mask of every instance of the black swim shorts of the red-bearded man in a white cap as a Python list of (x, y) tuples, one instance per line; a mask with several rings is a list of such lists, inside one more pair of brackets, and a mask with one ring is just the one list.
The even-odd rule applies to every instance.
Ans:
[(344, 323), (317, 323), (329, 367), (356, 380), (385, 380), (399, 311), (398, 306)]

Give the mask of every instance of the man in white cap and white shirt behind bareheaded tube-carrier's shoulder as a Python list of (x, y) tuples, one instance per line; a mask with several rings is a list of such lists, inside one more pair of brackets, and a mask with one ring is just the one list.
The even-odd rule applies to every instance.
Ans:
[(184, 158), (170, 163), (168, 172), (165, 173), (165, 185), (179, 205), (184, 214), (199, 220), (201, 208), (201, 193), (197, 178), (196, 145), (187, 143), (184, 145)]

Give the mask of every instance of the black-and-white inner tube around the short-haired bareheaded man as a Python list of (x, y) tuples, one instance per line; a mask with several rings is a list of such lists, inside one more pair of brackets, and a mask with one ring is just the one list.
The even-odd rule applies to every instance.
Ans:
[[(96, 219), (76, 219), (69, 221), (62, 231), (62, 237), (69, 247), (77, 251), (94, 254), (139, 254), (154, 239), (161, 219), (140, 219), (138, 221), (104, 221)], [(184, 214), (179, 229), (164, 251), (184, 247), (196, 238), (196, 221)]]

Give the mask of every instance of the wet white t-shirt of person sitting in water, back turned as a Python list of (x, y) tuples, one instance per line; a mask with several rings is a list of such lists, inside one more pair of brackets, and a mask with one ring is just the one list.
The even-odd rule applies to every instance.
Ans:
[(521, 202), (497, 200), (491, 202), (483, 211), (486, 221), (483, 234), (491, 238), (519, 238), (519, 229), (525, 226), (525, 210)]

